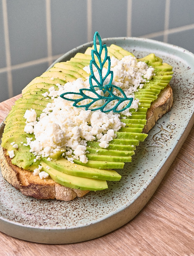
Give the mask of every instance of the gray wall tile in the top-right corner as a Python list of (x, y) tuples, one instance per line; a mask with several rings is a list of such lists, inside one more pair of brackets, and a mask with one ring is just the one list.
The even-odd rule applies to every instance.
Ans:
[(193, 0), (171, 0), (169, 28), (176, 28), (194, 23)]

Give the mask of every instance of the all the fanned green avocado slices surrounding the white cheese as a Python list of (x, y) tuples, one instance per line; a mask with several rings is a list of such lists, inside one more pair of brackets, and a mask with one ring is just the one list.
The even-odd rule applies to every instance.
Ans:
[[(54, 86), (55, 90), (58, 90), (57, 83), (64, 85), (78, 77), (86, 79), (89, 75), (83, 70), (83, 67), (90, 64), (92, 48), (89, 47), (84, 54), (76, 54), (67, 62), (56, 63), (49, 71), (33, 79), (22, 90), (23, 96), (16, 101), (5, 119), (6, 125), (1, 144), (8, 151), (14, 150), (15, 157), (12, 158), (12, 164), (32, 170), (41, 162), (43, 170), (54, 181), (63, 186), (81, 190), (106, 189), (106, 180), (120, 180), (121, 176), (116, 171), (108, 169), (121, 169), (124, 162), (131, 162), (136, 146), (147, 137), (147, 134), (142, 133), (146, 124), (147, 109), (170, 82), (173, 74), (172, 67), (167, 63), (162, 63), (162, 59), (154, 54), (138, 59), (138, 61), (146, 62), (148, 66), (154, 67), (155, 76), (150, 81), (144, 82), (143, 88), (134, 93), (135, 98), (138, 98), (141, 104), (130, 117), (121, 115), (121, 121), (126, 123), (126, 126), (116, 132), (117, 137), (110, 142), (108, 148), (100, 148), (97, 141), (88, 141), (89, 153), (86, 164), (79, 160), (74, 160), (74, 164), (72, 164), (66, 159), (60, 158), (62, 154), (57, 155), (52, 161), (43, 158), (35, 162), (35, 156), (29, 152), (29, 146), (23, 144), (27, 142), (27, 137), (34, 138), (33, 134), (24, 133), (25, 111), (34, 109), (37, 118), (40, 117), (47, 103), (52, 102), (51, 98), (43, 96), (50, 87)], [(134, 56), (114, 44), (107, 48), (110, 57), (122, 59), (123, 56)], [(13, 148), (10, 144), (12, 142), (18, 145), (18, 149)]]

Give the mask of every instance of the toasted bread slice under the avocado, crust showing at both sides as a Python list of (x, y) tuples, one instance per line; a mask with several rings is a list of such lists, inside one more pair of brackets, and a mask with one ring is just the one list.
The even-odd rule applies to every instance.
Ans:
[[(148, 133), (155, 125), (157, 120), (165, 113), (169, 112), (173, 105), (172, 88), (167, 87), (161, 91), (156, 101), (153, 102), (147, 111), (147, 123), (144, 126), (143, 133)], [(6, 154), (7, 150), (0, 148), (0, 168), (5, 180), (7, 180), (16, 189), (26, 196), (32, 196), (38, 199), (59, 199), (71, 201), (75, 197), (83, 197), (89, 191), (66, 188), (51, 178), (41, 180), (39, 176), (33, 176), (32, 172), (19, 168), (11, 163), (11, 158)]]

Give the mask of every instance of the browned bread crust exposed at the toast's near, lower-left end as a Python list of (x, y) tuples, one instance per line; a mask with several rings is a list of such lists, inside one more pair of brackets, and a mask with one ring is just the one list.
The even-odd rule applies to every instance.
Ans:
[(39, 176), (33, 176), (32, 172), (19, 168), (11, 163), (11, 158), (6, 154), (6, 149), (0, 148), (0, 168), (5, 180), (16, 189), (19, 189), (25, 196), (32, 196), (38, 199), (59, 199), (71, 201), (75, 197), (83, 197), (89, 191), (66, 188), (50, 177), (41, 180)]

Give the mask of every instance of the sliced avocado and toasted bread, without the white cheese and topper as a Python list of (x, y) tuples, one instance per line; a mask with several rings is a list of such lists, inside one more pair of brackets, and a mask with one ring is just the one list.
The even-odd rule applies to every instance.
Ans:
[[(154, 67), (155, 76), (144, 82), (143, 87), (134, 93), (141, 104), (137, 111), (131, 112), (129, 117), (121, 115), (120, 119), (126, 125), (116, 131), (116, 138), (110, 141), (107, 148), (101, 148), (97, 140), (88, 141), (86, 154), (88, 162), (86, 163), (74, 159), (75, 164), (72, 164), (62, 157), (65, 150), (51, 155), (51, 161), (47, 157), (36, 159), (36, 156), (30, 152), (29, 145), (26, 145), (27, 137), (34, 140), (33, 133), (24, 133), (26, 110), (35, 110), (36, 118), (39, 118), (47, 104), (53, 101), (52, 97), (43, 96), (51, 87), (58, 90), (59, 87), (56, 84), (63, 86), (77, 78), (86, 79), (88, 74), (83, 67), (90, 64), (91, 55), (87, 54), (89, 52), (91, 52), (90, 48), (85, 54), (76, 54), (66, 63), (56, 63), (49, 71), (33, 79), (24, 88), (23, 97), (16, 102), (5, 120), (6, 126), (1, 145), (3, 148), (1, 148), (1, 160), (3, 159), (1, 171), (9, 183), (26, 195), (68, 201), (76, 196), (83, 196), (88, 190), (106, 189), (106, 180), (120, 180), (120, 175), (110, 169), (123, 168), (124, 162), (130, 162), (135, 146), (147, 137), (142, 130), (148, 132), (157, 119), (170, 110), (172, 93), (167, 84), (173, 73), (172, 67), (166, 63), (162, 64), (160, 58), (150, 54), (138, 61), (144, 61), (148, 66)], [(108, 48), (108, 54), (117, 59), (132, 55), (115, 45)], [(166, 89), (163, 90), (164, 88)], [(159, 103), (156, 103), (156, 99)], [(152, 102), (155, 103), (151, 105)], [(157, 111), (154, 104), (157, 104)], [(158, 111), (160, 106), (163, 107)], [(149, 114), (150, 119), (147, 124), (146, 114), (147, 117)], [(149, 127), (146, 128), (145, 125)], [(14, 156), (10, 154), (8, 156), (8, 151), (13, 151)], [(33, 176), (32, 172), (28, 171), (28, 169), (37, 169), (39, 165), (50, 177), (40, 179), (39, 176)]]

